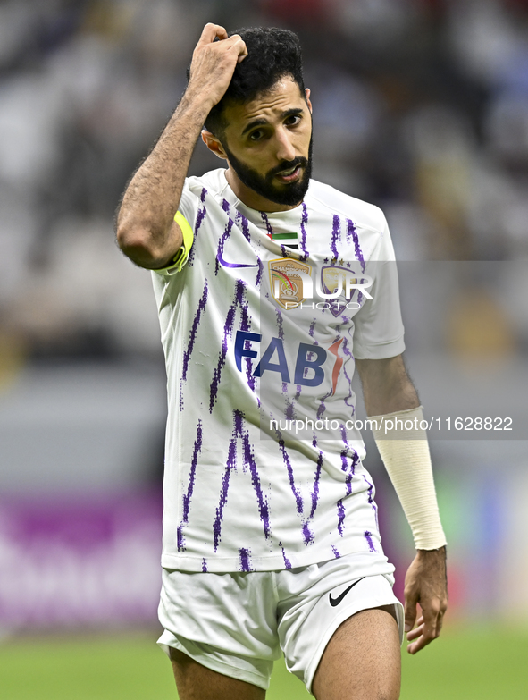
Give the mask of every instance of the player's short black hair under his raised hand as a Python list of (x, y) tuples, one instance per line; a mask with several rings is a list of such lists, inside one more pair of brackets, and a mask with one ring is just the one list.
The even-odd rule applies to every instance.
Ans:
[(239, 34), (247, 46), (247, 56), (237, 64), (229, 88), (205, 120), (205, 129), (221, 138), (226, 126), (222, 111), (228, 102), (242, 104), (271, 89), (285, 75), (305, 94), (303, 57), (297, 34), (277, 27), (255, 27), (230, 31)]

